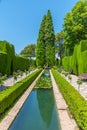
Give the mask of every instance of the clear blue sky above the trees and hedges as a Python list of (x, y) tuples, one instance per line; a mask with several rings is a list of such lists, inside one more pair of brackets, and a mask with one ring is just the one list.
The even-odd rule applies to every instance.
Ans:
[(55, 33), (62, 30), (67, 12), (78, 0), (1, 0), (0, 40), (14, 44), (15, 52), (36, 43), (43, 15), (50, 9)]

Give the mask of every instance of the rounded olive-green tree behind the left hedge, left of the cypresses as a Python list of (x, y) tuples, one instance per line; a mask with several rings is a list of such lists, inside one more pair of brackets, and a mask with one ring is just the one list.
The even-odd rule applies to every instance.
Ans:
[(35, 44), (29, 44), (20, 52), (20, 55), (30, 58), (35, 57), (35, 48), (36, 48)]

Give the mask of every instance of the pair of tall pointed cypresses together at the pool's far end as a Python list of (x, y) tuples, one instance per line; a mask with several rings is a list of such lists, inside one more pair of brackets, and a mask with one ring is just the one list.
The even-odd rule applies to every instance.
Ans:
[(51, 13), (48, 10), (47, 15), (43, 17), (36, 48), (37, 65), (53, 66), (55, 64), (55, 35)]

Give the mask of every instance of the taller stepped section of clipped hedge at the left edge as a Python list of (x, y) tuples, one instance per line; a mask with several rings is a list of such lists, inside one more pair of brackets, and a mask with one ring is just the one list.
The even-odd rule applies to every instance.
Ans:
[(14, 46), (9, 44), (7, 41), (0, 41), (0, 52), (6, 54), (2, 54), (1, 57), (3, 60), (0, 58), (0, 63), (6, 64), (5, 68), (0, 65), (0, 73), (9, 75), (13, 72), (13, 61), (15, 55)]

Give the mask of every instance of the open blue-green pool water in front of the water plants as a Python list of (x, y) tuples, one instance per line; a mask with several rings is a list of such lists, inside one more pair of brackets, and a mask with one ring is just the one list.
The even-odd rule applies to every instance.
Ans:
[(33, 90), (9, 130), (60, 130), (53, 90)]

